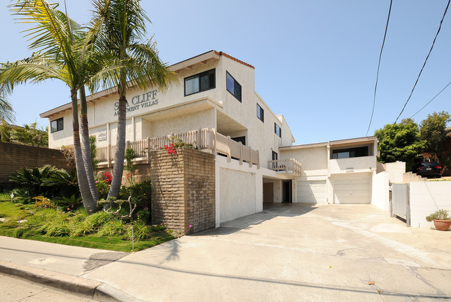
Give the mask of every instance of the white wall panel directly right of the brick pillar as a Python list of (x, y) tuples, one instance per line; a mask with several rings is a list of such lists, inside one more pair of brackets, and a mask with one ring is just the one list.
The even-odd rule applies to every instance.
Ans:
[(216, 156), (216, 228), (221, 223), (263, 210), (262, 169)]

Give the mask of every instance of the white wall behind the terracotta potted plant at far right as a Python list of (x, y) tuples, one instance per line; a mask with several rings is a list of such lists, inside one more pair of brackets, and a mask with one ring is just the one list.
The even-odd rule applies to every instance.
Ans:
[(436, 210), (451, 213), (451, 181), (410, 183), (410, 223), (412, 227), (434, 227), (425, 217)]

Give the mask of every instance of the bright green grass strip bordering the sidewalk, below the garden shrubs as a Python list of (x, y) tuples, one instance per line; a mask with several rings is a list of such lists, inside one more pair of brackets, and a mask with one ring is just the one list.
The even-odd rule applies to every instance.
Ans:
[[(26, 210), (27, 209), (27, 210)], [(30, 211), (33, 210), (34, 217), (31, 217)], [(155, 228), (149, 233), (148, 238), (142, 240), (132, 241), (128, 238), (126, 233), (115, 233), (111, 236), (99, 236), (96, 233), (89, 233), (84, 236), (49, 236), (44, 232), (37, 230), (35, 224), (22, 223), (19, 225), (17, 221), (20, 219), (32, 219), (39, 217), (39, 215), (49, 215), (49, 209), (41, 210), (33, 208), (33, 205), (17, 205), (17, 203), (11, 203), (10, 201), (0, 202), (0, 217), (6, 218), (8, 221), (0, 222), (0, 235), (8, 237), (16, 237), (27, 240), (37, 240), (43, 242), (52, 242), (57, 244), (66, 244), (71, 246), (83, 246), (92, 249), (105, 249), (110, 251), (140, 251), (147, 249), (151, 246), (161, 244), (173, 239), (173, 235), (167, 229), (162, 227)], [(54, 210), (56, 211), (56, 210)], [(58, 220), (58, 216), (56, 216)], [(72, 224), (76, 223), (77, 219), (71, 221)], [(83, 224), (85, 219), (80, 220), (79, 223)], [(112, 222), (111, 222), (112, 223)], [(56, 221), (58, 224), (58, 221)], [(132, 249), (132, 247), (134, 247)]]

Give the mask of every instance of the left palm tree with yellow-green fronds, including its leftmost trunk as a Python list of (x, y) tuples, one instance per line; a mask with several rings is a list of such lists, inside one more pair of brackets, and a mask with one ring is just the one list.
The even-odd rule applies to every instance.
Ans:
[[(90, 158), (89, 138), (83, 146), (84, 149), (87, 146), (84, 156), (81, 151), (77, 91), (84, 89), (90, 76), (92, 57), (89, 53), (94, 49), (93, 35), (83, 31), (67, 14), (56, 10), (57, 6), (58, 4), (49, 4), (45, 0), (22, 0), (10, 5), (22, 22), (35, 24), (28, 29), (28, 36), (31, 36), (32, 41), (30, 48), (41, 52), (33, 53), (33, 56), (24, 60), (1, 64), (0, 92), (3, 95), (9, 94), (19, 83), (40, 83), (49, 78), (56, 78), (67, 84), (71, 92), (78, 185), (85, 210), (89, 214), (96, 211), (96, 194), (92, 193), (85, 169), (85, 166), (90, 166), (92, 172), (92, 163), (83, 160), (83, 157)], [(80, 104), (83, 107), (83, 101)]]

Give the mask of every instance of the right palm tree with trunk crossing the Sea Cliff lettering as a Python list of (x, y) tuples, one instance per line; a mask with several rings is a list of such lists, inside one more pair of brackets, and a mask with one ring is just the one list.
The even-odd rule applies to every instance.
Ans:
[[(112, 183), (108, 197), (117, 197), (124, 171), (126, 149), (126, 92), (130, 87), (165, 89), (176, 76), (164, 64), (155, 42), (142, 43), (146, 20), (150, 22), (139, 0), (94, 0), (94, 8), (103, 23), (103, 47), (112, 58), (112, 65), (122, 65), (119, 72), (102, 75), (104, 87), (116, 87), (119, 95), (117, 141), (114, 153)], [(98, 81), (94, 81), (98, 83)]]

